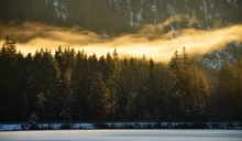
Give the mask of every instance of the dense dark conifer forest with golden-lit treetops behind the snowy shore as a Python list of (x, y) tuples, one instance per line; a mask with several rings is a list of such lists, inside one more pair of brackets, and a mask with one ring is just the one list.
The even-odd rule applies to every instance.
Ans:
[(221, 69), (186, 52), (169, 63), (58, 47), (0, 51), (0, 121), (242, 121), (242, 57)]

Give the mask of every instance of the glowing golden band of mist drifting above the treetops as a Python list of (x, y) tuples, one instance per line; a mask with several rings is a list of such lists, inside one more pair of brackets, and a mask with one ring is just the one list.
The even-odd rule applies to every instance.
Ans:
[[(163, 33), (165, 22), (160, 25), (143, 25), (135, 34), (124, 34), (110, 40), (81, 28), (55, 28), (40, 23), (24, 23), (21, 26), (0, 25), (0, 35), (9, 35), (18, 41), (18, 50), (23, 54), (50, 48), (54, 53), (61, 45), (84, 50), (98, 56), (118, 50), (121, 56), (142, 57), (167, 62), (176, 50), (184, 46), (188, 53), (201, 55), (224, 47), (230, 42), (242, 42), (242, 24), (223, 29), (202, 31), (184, 29)], [(0, 42), (1, 44), (3, 41)]]

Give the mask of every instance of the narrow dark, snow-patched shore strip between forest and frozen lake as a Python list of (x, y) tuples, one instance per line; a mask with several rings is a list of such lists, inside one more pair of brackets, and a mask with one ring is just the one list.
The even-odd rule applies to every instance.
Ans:
[(242, 123), (234, 122), (165, 122), (165, 121), (116, 121), (116, 122), (16, 122), (0, 123), (0, 131), (21, 130), (79, 130), (79, 129), (234, 129)]

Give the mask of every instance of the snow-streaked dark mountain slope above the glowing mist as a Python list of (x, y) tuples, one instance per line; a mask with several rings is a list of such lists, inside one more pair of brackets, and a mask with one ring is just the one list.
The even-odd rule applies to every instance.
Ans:
[(182, 21), (167, 30), (215, 29), (242, 21), (241, 0), (1, 0), (2, 21), (37, 21), (54, 25), (80, 25), (119, 34), (140, 24), (158, 24), (169, 18)]

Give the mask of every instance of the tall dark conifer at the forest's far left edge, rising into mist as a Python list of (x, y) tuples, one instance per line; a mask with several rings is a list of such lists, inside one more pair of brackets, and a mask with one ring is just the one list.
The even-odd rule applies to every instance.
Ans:
[(19, 120), (19, 99), (21, 90), (21, 72), (19, 72), (22, 54), (16, 53), (16, 43), (6, 37), (0, 51), (0, 111), (3, 121)]

